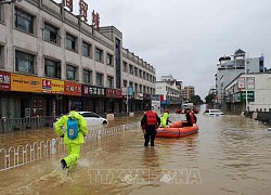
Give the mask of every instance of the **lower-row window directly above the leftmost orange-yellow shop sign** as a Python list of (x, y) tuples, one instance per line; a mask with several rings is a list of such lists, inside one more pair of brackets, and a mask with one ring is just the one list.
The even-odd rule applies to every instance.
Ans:
[(34, 58), (31, 54), (21, 51), (15, 52), (15, 70), (25, 74), (34, 74)]

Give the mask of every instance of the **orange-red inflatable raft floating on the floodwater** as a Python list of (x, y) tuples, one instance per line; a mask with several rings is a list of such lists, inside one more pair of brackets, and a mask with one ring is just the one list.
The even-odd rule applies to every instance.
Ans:
[(182, 127), (183, 122), (175, 122), (169, 128), (158, 128), (156, 138), (183, 138), (197, 133), (198, 126), (196, 123), (193, 123), (192, 127)]

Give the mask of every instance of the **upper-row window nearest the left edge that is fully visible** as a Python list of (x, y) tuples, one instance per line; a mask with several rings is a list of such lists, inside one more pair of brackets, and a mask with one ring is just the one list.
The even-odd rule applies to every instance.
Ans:
[(34, 17), (26, 12), (15, 9), (15, 27), (34, 34)]

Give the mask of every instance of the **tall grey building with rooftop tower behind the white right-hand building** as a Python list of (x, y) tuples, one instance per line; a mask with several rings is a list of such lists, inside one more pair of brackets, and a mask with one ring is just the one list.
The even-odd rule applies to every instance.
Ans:
[(248, 57), (241, 49), (236, 50), (231, 56), (222, 56), (217, 64), (216, 89), (218, 103), (224, 106), (224, 88), (240, 74), (245, 73), (264, 73), (263, 56)]

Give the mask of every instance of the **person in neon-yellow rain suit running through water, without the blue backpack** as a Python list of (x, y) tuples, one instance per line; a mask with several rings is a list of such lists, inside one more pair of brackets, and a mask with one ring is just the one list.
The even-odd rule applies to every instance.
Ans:
[[(88, 129), (87, 129), (87, 121), (77, 112), (77, 106), (72, 105), (70, 112), (68, 115), (64, 115), (55, 122), (55, 132), (64, 138), (64, 144), (66, 145), (68, 156), (66, 156), (64, 159), (61, 160), (62, 168), (66, 169), (74, 165), (76, 165), (77, 160), (80, 158), (80, 148), (81, 144), (85, 143), (83, 136), (86, 136)], [(69, 131), (67, 129), (68, 120), (76, 119), (78, 123), (78, 134), (76, 138), (70, 139)], [(65, 126), (64, 132), (62, 131), (62, 127)]]

